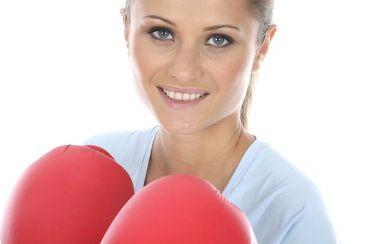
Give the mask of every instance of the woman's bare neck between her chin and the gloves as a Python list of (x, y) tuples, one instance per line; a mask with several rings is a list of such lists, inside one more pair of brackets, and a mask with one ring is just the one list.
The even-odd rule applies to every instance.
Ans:
[(233, 116), (192, 135), (160, 129), (152, 157), (162, 175), (194, 174), (213, 183), (231, 177), (252, 142), (254, 137)]

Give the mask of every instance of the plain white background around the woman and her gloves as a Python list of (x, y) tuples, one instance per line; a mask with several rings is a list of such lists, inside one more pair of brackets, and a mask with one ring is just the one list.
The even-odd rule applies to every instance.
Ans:
[[(363, 1), (276, 1), (251, 132), (319, 185), (342, 243), (365, 243)], [(155, 125), (132, 86), (123, 5), (1, 0), (0, 213), (22, 171), (55, 146)]]

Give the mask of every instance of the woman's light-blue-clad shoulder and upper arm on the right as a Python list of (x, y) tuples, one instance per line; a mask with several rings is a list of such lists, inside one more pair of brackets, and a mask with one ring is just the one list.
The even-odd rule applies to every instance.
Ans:
[(248, 162), (237, 194), (259, 240), (336, 243), (317, 185), (272, 146), (256, 143), (255, 157)]

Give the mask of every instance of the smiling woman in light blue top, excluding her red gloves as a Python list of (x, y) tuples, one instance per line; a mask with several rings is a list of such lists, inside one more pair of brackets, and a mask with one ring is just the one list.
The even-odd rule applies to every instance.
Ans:
[(121, 10), (139, 96), (159, 125), (92, 137), (135, 191), (170, 174), (210, 181), (259, 243), (336, 243), (317, 187), (247, 131), (252, 82), (276, 32), (270, 0), (134, 0)]

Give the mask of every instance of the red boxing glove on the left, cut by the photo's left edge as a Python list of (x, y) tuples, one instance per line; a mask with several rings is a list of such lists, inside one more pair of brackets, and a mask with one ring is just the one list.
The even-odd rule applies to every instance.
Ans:
[(100, 243), (134, 193), (128, 173), (98, 146), (59, 146), (30, 165), (8, 201), (2, 244)]

